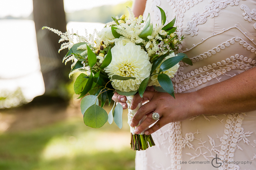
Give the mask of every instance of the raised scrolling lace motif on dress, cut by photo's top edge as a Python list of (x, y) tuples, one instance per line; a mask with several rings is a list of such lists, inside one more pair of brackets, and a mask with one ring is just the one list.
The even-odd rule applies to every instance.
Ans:
[[(244, 0), (243, 0), (244, 1)], [(186, 29), (184, 30), (184, 33), (186, 35), (197, 35), (198, 34), (198, 28), (196, 27), (198, 24), (204, 24), (206, 22), (206, 18), (210, 16), (210, 18), (213, 18), (215, 16), (218, 16), (219, 9), (224, 9), (228, 4), (231, 6), (238, 5), (239, 0), (209, 0), (210, 5), (206, 5), (204, 7), (204, 12), (202, 14), (199, 13), (193, 13), (190, 17), (192, 21), (188, 21), (186, 24)], [(217, 9), (219, 8), (219, 9)]]

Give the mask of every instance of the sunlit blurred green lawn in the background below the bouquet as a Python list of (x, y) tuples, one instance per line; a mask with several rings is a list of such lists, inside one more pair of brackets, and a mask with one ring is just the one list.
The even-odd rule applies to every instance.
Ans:
[(1, 170), (131, 170), (128, 125), (87, 127), (72, 118), (26, 132), (0, 135)]

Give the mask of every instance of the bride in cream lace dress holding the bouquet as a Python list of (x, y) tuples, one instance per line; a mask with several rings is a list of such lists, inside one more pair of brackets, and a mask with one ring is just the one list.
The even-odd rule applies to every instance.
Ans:
[[(177, 34), (185, 40), (172, 78), (175, 97), (148, 89), (131, 109), (149, 100), (132, 119), (139, 134), (152, 134), (156, 146), (136, 152), (136, 170), (249, 170), (256, 167), (256, 1), (135, 0), (134, 14), (150, 13), (166, 23), (176, 16)], [(145, 7), (145, 8), (144, 8)], [(113, 97), (116, 98), (116, 95)], [(125, 96), (118, 96), (127, 108)], [(152, 119), (157, 112), (160, 119)]]

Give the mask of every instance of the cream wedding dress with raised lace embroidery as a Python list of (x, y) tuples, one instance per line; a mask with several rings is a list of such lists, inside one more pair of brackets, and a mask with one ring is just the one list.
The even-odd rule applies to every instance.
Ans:
[[(177, 34), (186, 37), (179, 52), (193, 61), (193, 66), (180, 63), (172, 78), (176, 93), (196, 91), (256, 66), (255, 0), (148, 0), (143, 17), (150, 13), (154, 24), (161, 18), (156, 6), (166, 12), (166, 23), (177, 17)], [(156, 146), (136, 152), (136, 170), (255, 170), (255, 132), (256, 111), (169, 123), (152, 134)], [(219, 168), (211, 165), (216, 154), (227, 161)]]

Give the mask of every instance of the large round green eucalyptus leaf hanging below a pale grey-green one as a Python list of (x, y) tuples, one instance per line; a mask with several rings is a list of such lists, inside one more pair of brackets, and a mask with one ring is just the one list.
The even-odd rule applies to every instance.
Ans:
[(92, 128), (102, 127), (107, 119), (107, 112), (96, 104), (90, 106), (84, 113), (84, 124)]

